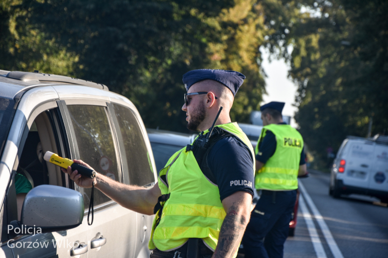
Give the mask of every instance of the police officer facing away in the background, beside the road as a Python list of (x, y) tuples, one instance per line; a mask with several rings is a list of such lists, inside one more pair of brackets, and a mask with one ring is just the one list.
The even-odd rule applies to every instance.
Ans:
[(283, 107), (282, 102), (260, 107), (264, 126), (255, 150), (255, 188), (261, 196), (242, 240), (245, 258), (283, 257), (297, 177), (307, 173), (303, 138), (283, 122)]

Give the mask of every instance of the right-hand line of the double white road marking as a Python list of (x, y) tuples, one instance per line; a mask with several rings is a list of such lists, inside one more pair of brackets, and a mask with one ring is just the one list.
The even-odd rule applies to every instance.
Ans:
[[(299, 190), (302, 192), (303, 196), (306, 199), (306, 202), (308, 206), (310, 207), (314, 218), (317, 220), (319, 227), (322, 230), (323, 236), (326, 239), (327, 244), (330, 247), (331, 253), (333, 254), (334, 258), (343, 258), (343, 255), (341, 251), (338, 248), (338, 245), (336, 241), (333, 238), (333, 235), (331, 234), (329, 227), (327, 227), (326, 222), (324, 222), (324, 219), (321, 215), (321, 213), (318, 211), (317, 207), (315, 206), (314, 202), (312, 201), (311, 197), (308, 195), (305, 186), (300, 182), (299, 180)], [(301, 197), (301, 196), (299, 196)]]

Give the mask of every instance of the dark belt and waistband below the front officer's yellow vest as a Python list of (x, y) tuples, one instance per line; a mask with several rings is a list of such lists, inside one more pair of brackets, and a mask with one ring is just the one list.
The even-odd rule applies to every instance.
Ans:
[(211, 258), (213, 251), (207, 247), (202, 239), (190, 238), (181, 247), (163, 252), (159, 249), (155, 249), (150, 258)]

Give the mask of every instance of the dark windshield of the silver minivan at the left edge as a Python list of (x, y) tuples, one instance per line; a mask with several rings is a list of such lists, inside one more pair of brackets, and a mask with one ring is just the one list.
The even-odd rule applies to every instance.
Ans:
[(11, 119), (13, 115), (15, 101), (13, 99), (0, 98), (0, 153), (8, 135)]

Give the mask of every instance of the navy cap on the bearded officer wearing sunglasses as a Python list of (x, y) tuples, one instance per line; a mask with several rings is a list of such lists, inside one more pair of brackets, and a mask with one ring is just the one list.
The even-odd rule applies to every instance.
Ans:
[(236, 71), (199, 69), (187, 72), (183, 75), (182, 80), (185, 84), (186, 91), (189, 91), (190, 87), (194, 83), (208, 79), (224, 84), (230, 91), (232, 91), (233, 96), (235, 96), (236, 92), (244, 82), (245, 76)]

